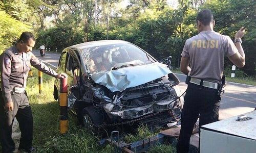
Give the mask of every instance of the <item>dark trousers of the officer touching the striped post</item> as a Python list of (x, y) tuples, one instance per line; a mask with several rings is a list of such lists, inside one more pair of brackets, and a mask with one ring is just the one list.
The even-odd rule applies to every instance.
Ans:
[[(2, 96), (1, 96), (2, 97)], [(15, 143), (12, 140), (12, 124), (14, 117), (19, 123), (21, 132), (19, 148), (29, 149), (32, 147), (33, 139), (33, 116), (25, 93), (12, 93), (13, 110), (4, 110), (4, 100), (0, 101), (0, 141), (3, 152), (15, 150)]]

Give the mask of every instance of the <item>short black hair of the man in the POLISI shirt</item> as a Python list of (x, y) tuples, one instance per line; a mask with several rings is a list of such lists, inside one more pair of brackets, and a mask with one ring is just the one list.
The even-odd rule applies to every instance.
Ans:
[(197, 20), (201, 21), (204, 25), (209, 25), (214, 20), (214, 15), (211, 10), (204, 9), (198, 13)]

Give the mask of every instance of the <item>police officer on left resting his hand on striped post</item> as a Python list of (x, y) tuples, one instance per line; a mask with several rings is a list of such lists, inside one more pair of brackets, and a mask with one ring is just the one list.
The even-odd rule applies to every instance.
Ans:
[(25, 152), (35, 151), (32, 147), (33, 117), (25, 91), (30, 65), (55, 78), (65, 78), (65, 75), (56, 73), (31, 53), (34, 45), (33, 34), (23, 32), (18, 42), (5, 50), (0, 58), (0, 140), (3, 152), (15, 150), (11, 137), (14, 117), (22, 134), (18, 149)]

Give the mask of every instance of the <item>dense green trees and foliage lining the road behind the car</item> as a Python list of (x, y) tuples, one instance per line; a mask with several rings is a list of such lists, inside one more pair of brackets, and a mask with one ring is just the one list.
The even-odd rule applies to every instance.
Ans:
[[(185, 40), (197, 34), (197, 12), (209, 8), (214, 12), (215, 31), (231, 39), (246, 25), (246, 65), (241, 70), (249, 76), (256, 74), (256, 1), (177, 0), (178, 7), (172, 4), (175, 1), (6, 0), (0, 3), (1, 13), (5, 14), (0, 21), (4, 31), (0, 34), (0, 52), (26, 28), (33, 28), (37, 48), (45, 43), (51, 50), (62, 50), (86, 41), (121, 39), (138, 45), (157, 59), (172, 55), (173, 65), (179, 67)], [(8, 25), (13, 26), (3, 24), (4, 20), (12, 21)], [(225, 59), (225, 67), (230, 65)]]

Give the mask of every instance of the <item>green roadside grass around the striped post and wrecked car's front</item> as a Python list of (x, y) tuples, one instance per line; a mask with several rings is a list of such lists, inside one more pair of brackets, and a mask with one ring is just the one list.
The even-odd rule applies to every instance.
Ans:
[[(27, 92), (34, 118), (33, 146), (37, 152), (114, 152), (114, 147), (101, 147), (99, 138), (92, 136), (86, 129), (77, 126), (76, 117), (69, 114), (69, 132), (59, 133), (59, 106), (53, 98), (54, 78), (43, 74), (42, 93), (38, 92), (37, 70), (34, 68), (33, 78), (28, 79)], [(157, 134), (141, 125), (135, 135), (126, 134), (125, 142), (134, 142)], [(175, 152), (172, 145), (157, 145), (150, 152)]]

